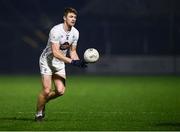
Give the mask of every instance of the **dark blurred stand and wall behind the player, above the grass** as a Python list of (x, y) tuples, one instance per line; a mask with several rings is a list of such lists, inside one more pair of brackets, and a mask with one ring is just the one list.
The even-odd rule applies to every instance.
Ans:
[(68, 74), (180, 73), (179, 0), (0, 0), (0, 74), (39, 74), (49, 30), (65, 7), (78, 10), (78, 53), (100, 60)]

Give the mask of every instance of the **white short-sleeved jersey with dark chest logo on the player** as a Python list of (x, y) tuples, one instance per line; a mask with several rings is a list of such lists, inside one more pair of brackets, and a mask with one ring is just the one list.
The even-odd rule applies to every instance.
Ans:
[(43, 53), (40, 57), (40, 63), (47, 61), (48, 65), (50, 65), (51, 69), (58, 71), (59, 69), (62, 69), (65, 67), (65, 64), (63, 61), (55, 58), (52, 55), (52, 49), (51, 44), (56, 43), (60, 45), (60, 49), (64, 55), (67, 54), (67, 48), (61, 49), (61, 46), (63, 46), (65, 43), (69, 43), (69, 45), (77, 45), (79, 39), (79, 31), (72, 27), (69, 32), (66, 32), (63, 28), (63, 23), (54, 26), (50, 33), (49, 33), (49, 39), (47, 42), (47, 46), (44, 49)]

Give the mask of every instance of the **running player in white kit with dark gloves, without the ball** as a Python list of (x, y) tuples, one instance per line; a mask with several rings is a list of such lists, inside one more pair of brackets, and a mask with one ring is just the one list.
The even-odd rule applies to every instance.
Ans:
[[(45, 116), (45, 105), (48, 101), (62, 96), (65, 92), (65, 63), (80, 68), (87, 67), (80, 60), (76, 52), (79, 31), (74, 27), (77, 19), (77, 11), (68, 7), (64, 11), (64, 22), (54, 26), (50, 33), (47, 46), (42, 52), (39, 65), (42, 78), (42, 90), (37, 101), (36, 121), (42, 121)], [(67, 51), (70, 57), (67, 57)], [(55, 90), (51, 84), (54, 82)]]

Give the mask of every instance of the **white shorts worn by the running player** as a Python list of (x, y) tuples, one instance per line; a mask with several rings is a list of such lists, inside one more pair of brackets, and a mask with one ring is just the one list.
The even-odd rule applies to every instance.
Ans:
[(66, 78), (66, 71), (65, 71), (65, 66), (62, 67), (62, 65), (55, 65), (52, 66), (52, 62), (48, 63), (47, 59), (41, 58), (39, 59), (39, 67), (40, 67), (40, 72), (42, 75), (59, 75), (63, 78)]

